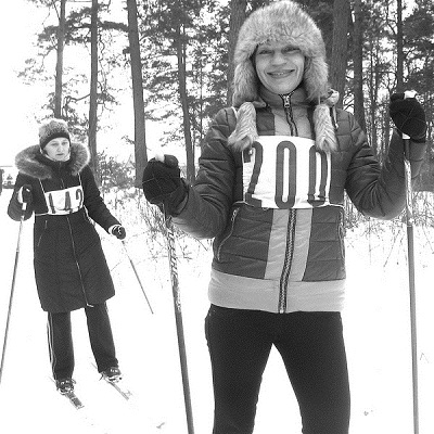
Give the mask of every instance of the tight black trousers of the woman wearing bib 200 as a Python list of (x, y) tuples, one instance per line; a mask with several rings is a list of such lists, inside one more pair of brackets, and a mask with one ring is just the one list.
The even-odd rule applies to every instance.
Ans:
[(212, 306), (205, 332), (214, 383), (213, 434), (253, 433), (272, 345), (296, 395), (303, 433), (348, 433), (349, 385), (340, 312), (282, 315)]

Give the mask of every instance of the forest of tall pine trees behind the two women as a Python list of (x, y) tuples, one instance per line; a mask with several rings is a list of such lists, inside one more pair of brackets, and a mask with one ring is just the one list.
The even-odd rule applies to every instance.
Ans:
[[(35, 125), (34, 142), (41, 119), (65, 118), (73, 136), (89, 144), (91, 165), (104, 191), (139, 188), (143, 167), (159, 146), (178, 156), (193, 182), (208, 123), (220, 107), (231, 104), (239, 28), (253, 10), (269, 1), (18, 1), (20, 9), (35, 14), (38, 25), (28, 35), (31, 51), (15, 75), (27, 86), (28, 95), (38, 92), (31, 101), (23, 95), (12, 105), (7, 99), (2, 110), (28, 108), (33, 102), (27, 116)], [(432, 192), (433, 2), (298, 3), (322, 30), (330, 85), (340, 91), (341, 106), (355, 114), (380, 161), (393, 128), (391, 93), (418, 92), (427, 116), (429, 152), (416, 192)], [(18, 34), (27, 30), (20, 20), (13, 28)], [(14, 50), (13, 39), (2, 38), (5, 44)], [(4, 130), (10, 127), (4, 125)], [(8, 146), (12, 150), (20, 151), (18, 141)]]

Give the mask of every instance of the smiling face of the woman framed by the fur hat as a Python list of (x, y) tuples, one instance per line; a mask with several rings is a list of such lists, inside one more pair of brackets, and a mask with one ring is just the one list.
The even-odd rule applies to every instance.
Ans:
[(256, 74), (271, 92), (286, 94), (301, 84), (305, 56), (286, 42), (265, 42), (255, 52)]

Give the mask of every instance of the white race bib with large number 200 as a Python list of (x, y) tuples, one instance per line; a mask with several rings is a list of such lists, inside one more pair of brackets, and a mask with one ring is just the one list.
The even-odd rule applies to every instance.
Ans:
[(264, 208), (330, 205), (331, 155), (314, 140), (260, 136), (243, 153), (244, 201)]

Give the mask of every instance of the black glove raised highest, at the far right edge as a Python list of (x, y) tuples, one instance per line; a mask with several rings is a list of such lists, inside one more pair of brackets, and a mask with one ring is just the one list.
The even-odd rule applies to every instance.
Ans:
[(388, 113), (398, 130), (416, 142), (426, 139), (425, 111), (416, 98), (404, 99), (404, 93), (393, 93)]

